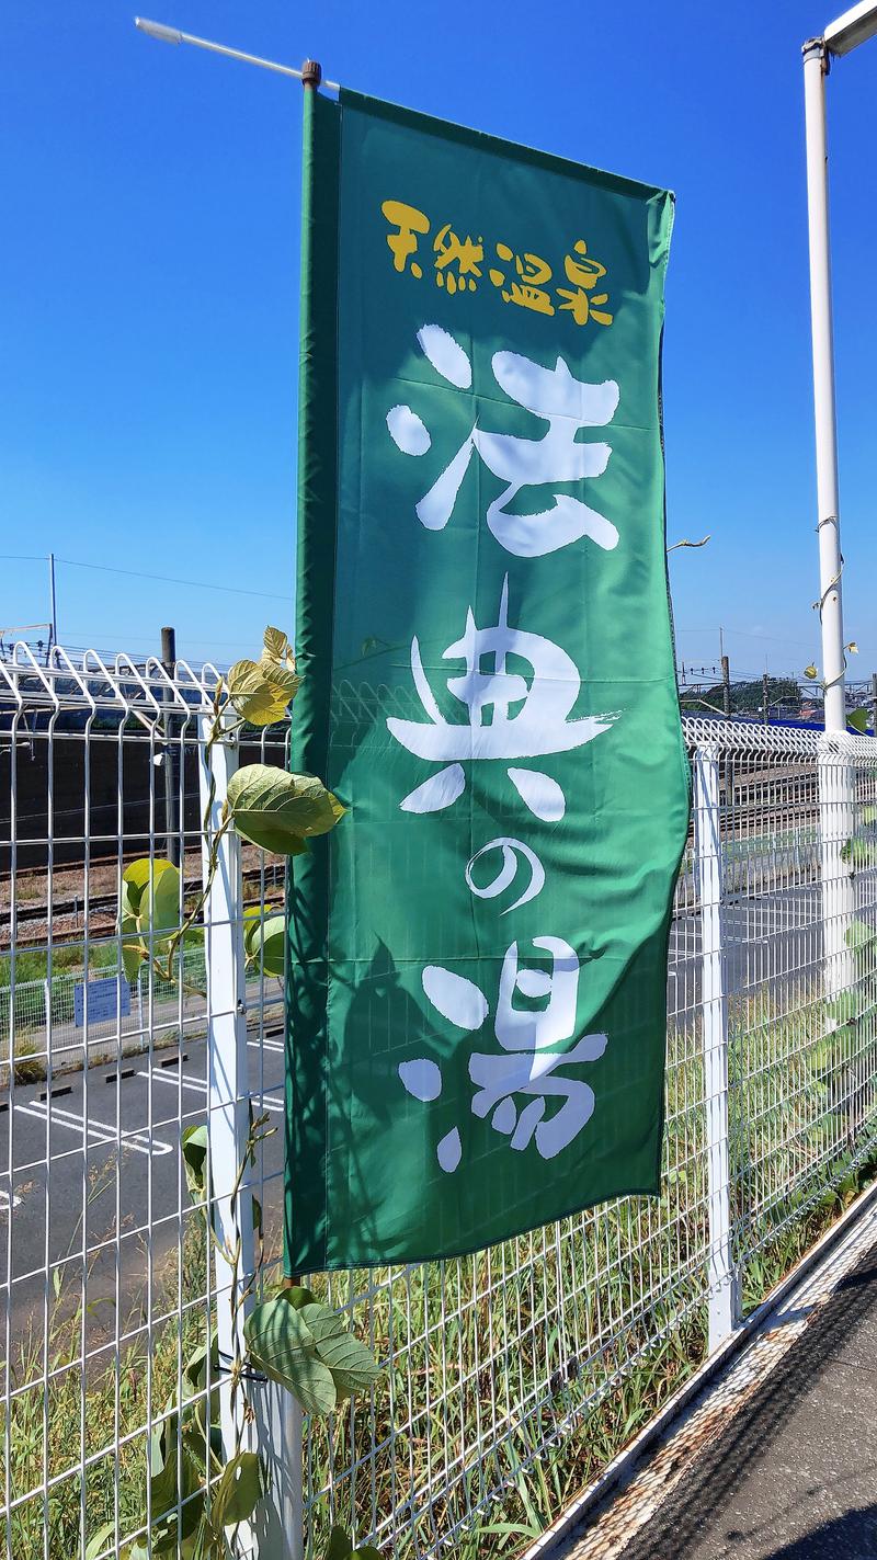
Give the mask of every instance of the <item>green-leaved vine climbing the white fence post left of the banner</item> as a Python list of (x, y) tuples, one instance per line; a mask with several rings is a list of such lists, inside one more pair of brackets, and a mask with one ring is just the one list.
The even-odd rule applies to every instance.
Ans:
[[(300, 679), (289, 640), (279, 629), (265, 629), (257, 661), (237, 661), (225, 685), (217, 685), (206, 760), (218, 741), (228, 741), (243, 725), (265, 727), (282, 719), (295, 697)], [(209, 796), (201, 828), (208, 850), (204, 886), (194, 902), (183, 902), (179, 869), (164, 858), (131, 863), (122, 878), (119, 933), (128, 980), (136, 980), (142, 964), (172, 980), (175, 959), (186, 942), (203, 939), (201, 914), (218, 869), (218, 847), (234, 828), (242, 839), (279, 855), (301, 855), (314, 835), (328, 833), (343, 816), (343, 807), (314, 775), (287, 774), (267, 764), (245, 764), (228, 785), (218, 827), (212, 828), (215, 783), (211, 772)], [(282, 975), (286, 920), (262, 917), (250, 906), (243, 911), (243, 941), (248, 964), (261, 964), (268, 975)], [(183, 961), (179, 959), (179, 964)], [(265, 1251), (262, 1209), (253, 1198), (256, 1260), (253, 1271), (242, 1271), (239, 1231), (240, 1198), (245, 1195), (247, 1168), (254, 1162), (259, 1142), (270, 1136), (267, 1115), (251, 1119), (243, 1158), (228, 1197), (228, 1225), (234, 1239), (217, 1232), (214, 1197), (209, 1184), (208, 1126), (189, 1126), (181, 1134), (186, 1184), (194, 1206), (203, 1214), (209, 1242), (229, 1268), (228, 1304), (236, 1356), (220, 1353), (211, 1331), (189, 1356), (181, 1371), (181, 1390), (165, 1406), (150, 1438), (147, 1527), (122, 1544), (119, 1560), (147, 1560), (148, 1555), (175, 1555), (178, 1560), (226, 1560), (234, 1554), (234, 1535), (248, 1523), (268, 1488), (265, 1459), (245, 1449), (247, 1427), (254, 1423), (253, 1385), (268, 1379), (290, 1392), (307, 1413), (331, 1413), (345, 1398), (365, 1392), (379, 1376), (371, 1353), (343, 1324), (337, 1312), (315, 1299), (303, 1285), (279, 1284), (264, 1290)], [(257, 1304), (256, 1295), (264, 1293)], [(245, 1315), (240, 1329), (240, 1315)], [(223, 1443), (220, 1424), (220, 1382), (231, 1398), (234, 1445)], [(98, 1560), (112, 1546), (115, 1524), (91, 1537), (86, 1560)], [(346, 1532), (332, 1527), (326, 1560), (379, 1560), (370, 1544), (353, 1549)]]

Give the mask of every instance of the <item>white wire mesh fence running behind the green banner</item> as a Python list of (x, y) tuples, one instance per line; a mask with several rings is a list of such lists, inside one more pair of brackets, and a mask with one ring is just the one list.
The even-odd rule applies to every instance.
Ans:
[[(122, 657), (0, 663), (0, 1532), (14, 1560), (114, 1555), (137, 1535), (137, 1554), (178, 1552), (153, 1519), (156, 1437), (183, 1470), (173, 1404), (217, 1390), (209, 1360), (186, 1385), (186, 1360), (211, 1329), (231, 1353), (228, 1270), (179, 1139), (208, 1123), (222, 1221), (250, 1111), (282, 1128), (282, 994), (242, 955), (245, 903), (282, 908), (282, 863), (226, 836), (203, 942), (170, 980), (122, 964), (133, 860), (176, 861), (181, 908), (198, 894), (214, 683)], [(399, 1560), (520, 1552), (874, 1156), (877, 743), (701, 719), (685, 735), (660, 1198), (460, 1260), (309, 1279), (384, 1374), (328, 1420), (265, 1392), (251, 1434), (273, 1491), (261, 1527), (228, 1535), (237, 1554), (321, 1560), (336, 1521)], [(215, 744), (214, 811), (239, 757), (286, 764), (287, 736)], [(272, 1278), (282, 1129), (253, 1158)]]

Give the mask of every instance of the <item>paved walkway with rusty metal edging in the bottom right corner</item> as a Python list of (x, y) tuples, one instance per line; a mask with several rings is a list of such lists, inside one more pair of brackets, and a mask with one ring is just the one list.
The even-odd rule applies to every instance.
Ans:
[(877, 1560), (875, 1234), (871, 1209), (836, 1287), (790, 1298), (551, 1560)]

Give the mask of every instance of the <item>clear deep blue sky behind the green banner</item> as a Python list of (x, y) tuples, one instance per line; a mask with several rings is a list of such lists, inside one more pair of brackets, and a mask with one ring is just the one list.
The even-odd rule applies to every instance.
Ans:
[[(818, 654), (801, 42), (810, 0), (624, 6), (142, 0), (158, 20), (676, 190), (668, 537), (679, 658)], [(843, 8), (843, 0), (840, 0)], [(829, 81), (846, 629), (877, 668), (877, 42)], [(248, 654), (292, 621), (301, 89), (133, 27), (120, 0), (3, 23), (3, 626)], [(242, 594), (240, 591), (253, 594)], [(264, 593), (259, 596), (257, 593)]]

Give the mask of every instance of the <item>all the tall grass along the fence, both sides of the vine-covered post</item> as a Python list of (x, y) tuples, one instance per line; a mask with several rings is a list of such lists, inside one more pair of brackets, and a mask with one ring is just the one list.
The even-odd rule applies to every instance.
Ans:
[[(858, 1025), (827, 1037), (822, 1005), (804, 987), (783, 1005), (762, 991), (730, 1012), (732, 1212), (746, 1310), (877, 1173), (869, 1033)], [(332, 1423), (309, 1426), (309, 1554), (323, 1555), (337, 1521), (360, 1537), (375, 1527), (398, 1560), (423, 1555), (437, 1535), (454, 1557), (510, 1560), (698, 1368), (707, 1186), (691, 1014), (669, 1037), (666, 1094), (660, 1200), (604, 1204), (459, 1262), (312, 1281), (351, 1307), (389, 1370), (373, 1404), (354, 1399)], [(115, 1479), (122, 1533), (142, 1527), (147, 1370), (154, 1418), (181, 1359), (204, 1340), (206, 1262), (203, 1226), (189, 1220), (179, 1270), (173, 1262), (164, 1298), (156, 1292), (167, 1320), (151, 1351), (134, 1318), (117, 1363), (112, 1326), (95, 1354), (100, 1328), (64, 1289), (48, 1346), (42, 1329), (19, 1340), (9, 1362), (9, 1477), (12, 1498), (23, 1496), (14, 1555), (44, 1552), (44, 1523), (48, 1560), (78, 1554), (83, 1502), (87, 1538), (114, 1516)], [(84, 1487), (83, 1448), (94, 1457)], [(58, 1476), (45, 1504), (44, 1455)]]

